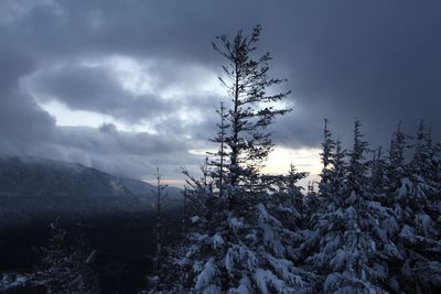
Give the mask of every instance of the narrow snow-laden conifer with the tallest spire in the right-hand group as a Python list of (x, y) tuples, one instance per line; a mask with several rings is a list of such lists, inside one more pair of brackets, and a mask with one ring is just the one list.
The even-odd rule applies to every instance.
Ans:
[[(388, 268), (383, 255), (396, 252), (387, 229), (380, 226), (383, 219), (390, 217), (389, 211), (369, 195), (365, 159), (368, 143), (363, 140), (359, 128), (361, 123), (355, 122), (354, 148), (348, 152), (346, 198), (336, 214), (344, 230), (341, 244), (335, 247), (330, 260), (332, 270), (324, 282), (326, 292), (384, 292), (381, 284), (387, 280)], [(333, 246), (337, 242), (330, 241)]]

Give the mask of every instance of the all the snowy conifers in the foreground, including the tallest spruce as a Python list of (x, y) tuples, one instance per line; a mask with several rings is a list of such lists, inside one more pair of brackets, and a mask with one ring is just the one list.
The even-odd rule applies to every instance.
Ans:
[[(304, 190), (298, 182), (308, 173), (294, 165), (284, 175), (261, 174), (275, 146), (270, 126), (289, 115), (282, 106), (290, 91), (270, 76), (271, 56), (258, 54), (260, 33), (256, 26), (213, 43), (226, 61), (219, 80), (228, 95), (212, 139), (218, 149), (202, 176), (183, 171), (173, 238), (158, 172), (151, 269), (138, 291), (440, 293), (441, 143), (423, 121), (411, 135), (398, 122), (390, 144), (373, 150), (356, 121), (353, 145), (343, 146), (324, 120), (318, 185)], [(101, 292), (95, 250), (79, 237), (66, 248), (65, 231), (56, 224), (52, 231), (33, 285)]]

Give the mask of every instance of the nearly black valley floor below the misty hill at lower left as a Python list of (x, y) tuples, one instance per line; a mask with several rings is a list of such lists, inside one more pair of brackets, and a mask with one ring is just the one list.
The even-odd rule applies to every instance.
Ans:
[[(163, 226), (168, 231), (165, 242), (171, 243), (179, 236), (181, 216), (179, 208), (164, 213)], [(138, 293), (146, 290), (146, 276), (153, 273), (154, 226), (155, 215), (150, 213), (83, 217), (76, 220), (60, 218), (56, 221), (55, 218), (47, 218), (33, 225), (2, 230), (0, 272), (9, 273), (12, 281), (17, 280), (17, 275), (25, 281), (17, 283), (17, 286), (8, 286), (8, 290), (6, 285), (10, 285), (11, 281), (3, 288), (0, 285), (0, 293), (47, 292), (44, 281), (39, 281), (36, 273), (47, 266), (43, 264), (45, 250), (53, 246), (53, 238), (60, 231), (64, 233), (64, 240), (60, 243), (66, 252), (63, 258), (68, 255), (69, 250), (83, 250), (80, 253), (87, 257), (93, 254), (87, 271), (96, 279), (101, 293)], [(71, 274), (72, 279), (78, 273)]]

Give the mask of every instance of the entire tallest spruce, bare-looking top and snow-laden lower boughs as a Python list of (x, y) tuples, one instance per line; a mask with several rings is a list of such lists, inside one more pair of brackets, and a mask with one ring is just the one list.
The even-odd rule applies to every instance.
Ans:
[[(259, 171), (272, 150), (267, 130), (277, 116), (276, 102), (289, 91), (269, 95), (282, 79), (269, 77), (270, 55), (256, 55), (261, 28), (218, 36), (213, 47), (226, 61), (222, 84), (230, 97), (223, 132), (227, 151), (225, 193), (190, 176), (197, 206), (190, 218), (189, 247), (180, 264), (189, 269), (189, 291), (196, 293), (302, 293), (311, 291), (308, 273), (292, 262), (294, 233), (272, 214)], [(223, 118), (223, 115), (220, 115)], [(224, 124), (224, 126), (226, 126)], [(223, 149), (223, 148), (222, 148)], [(224, 154), (224, 152), (222, 152)], [(217, 173), (219, 174), (219, 173)], [(215, 174), (216, 175), (216, 174)]]

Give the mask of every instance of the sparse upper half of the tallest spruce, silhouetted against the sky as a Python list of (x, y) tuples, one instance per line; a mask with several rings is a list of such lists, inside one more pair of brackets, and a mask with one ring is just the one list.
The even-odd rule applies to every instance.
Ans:
[(257, 25), (250, 35), (244, 35), (240, 30), (233, 40), (222, 35), (213, 43), (213, 48), (227, 62), (222, 67), (224, 76), (219, 80), (230, 97), (226, 116), (230, 127), (225, 137), (229, 149), (227, 181), (230, 188), (247, 187), (252, 190), (273, 146), (267, 127), (277, 116), (289, 111), (277, 109), (275, 102), (286, 98), (290, 91), (268, 94), (271, 86), (284, 79), (268, 76), (269, 53), (255, 57), (260, 33), (261, 26)]

